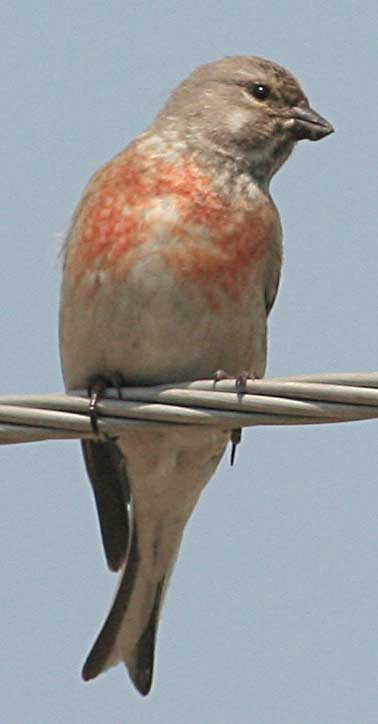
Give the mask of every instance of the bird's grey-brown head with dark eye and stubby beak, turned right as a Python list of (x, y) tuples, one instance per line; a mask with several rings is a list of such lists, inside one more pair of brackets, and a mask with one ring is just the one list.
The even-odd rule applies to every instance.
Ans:
[(310, 108), (285, 68), (236, 56), (197, 68), (171, 94), (157, 124), (188, 144), (228, 156), (268, 181), (304, 138), (317, 141), (332, 126)]

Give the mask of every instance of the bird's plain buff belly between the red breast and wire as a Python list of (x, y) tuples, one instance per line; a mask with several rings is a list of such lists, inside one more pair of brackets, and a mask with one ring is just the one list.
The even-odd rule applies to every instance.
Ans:
[(115, 371), (128, 384), (200, 379), (218, 369), (262, 376), (266, 311), (260, 274), (254, 267), (237, 294), (222, 285), (218, 292), (216, 280), (201, 285), (178, 279), (157, 256), (135, 265), (126, 280), (105, 273), (92, 289), (85, 279), (64, 285), (66, 386)]

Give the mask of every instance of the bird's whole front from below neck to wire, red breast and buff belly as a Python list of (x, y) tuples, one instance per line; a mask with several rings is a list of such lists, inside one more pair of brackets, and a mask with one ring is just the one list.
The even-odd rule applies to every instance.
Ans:
[(104, 167), (66, 246), (67, 385), (107, 370), (143, 384), (261, 375), (278, 227), (267, 197), (237, 202), (185, 159), (151, 168), (134, 153)]

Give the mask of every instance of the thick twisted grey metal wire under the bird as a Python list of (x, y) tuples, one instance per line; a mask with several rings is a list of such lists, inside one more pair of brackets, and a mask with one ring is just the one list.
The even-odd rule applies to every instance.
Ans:
[[(234, 380), (108, 390), (98, 404), (99, 431), (172, 425), (313, 425), (378, 418), (378, 372)], [(85, 390), (0, 397), (0, 444), (93, 437)]]

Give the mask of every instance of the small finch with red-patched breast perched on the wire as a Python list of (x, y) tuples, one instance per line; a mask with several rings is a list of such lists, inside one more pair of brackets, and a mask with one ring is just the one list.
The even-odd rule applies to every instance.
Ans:
[(295, 77), (256, 56), (196, 68), (90, 179), (63, 247), (66, 390), (87, 389), (82, 441), (107, 564), (119, 572), (84, 680), (123, 662), (142, 695), (185, 525), (230, 431), (98, 433), (108, 387), (264, 376), (282, 264), (270, 181), (302, 139), (333, 132)]

